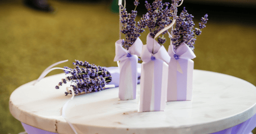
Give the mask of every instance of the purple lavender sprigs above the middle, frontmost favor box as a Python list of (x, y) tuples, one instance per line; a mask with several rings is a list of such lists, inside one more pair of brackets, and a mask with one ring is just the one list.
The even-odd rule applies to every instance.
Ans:
[[(150, 5), (147, 1), (145, 2), (146, 9), (148, 13), (143, 15), (143, 17), (138, 22), (139, 26), (148, 27), (150, 35), (152, 38), (155, 37), (156, 33), (162, 30), (164, 27), (168, 26), (173, 22), (175, 16), (175, 5), (172, 4), (168, 8), (169, 3), (162, 3), (162, 0), (156, 0)], [(162, 35), (167, 32), (164, 31)], [(157, 41), (159, 44), (164, 44), (166, 39), (164, 37), (158, 37)]]

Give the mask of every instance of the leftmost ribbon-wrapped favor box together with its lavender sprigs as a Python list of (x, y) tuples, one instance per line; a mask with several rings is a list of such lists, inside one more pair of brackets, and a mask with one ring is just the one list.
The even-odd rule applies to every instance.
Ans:
[(137, 11), (135, 10), (138, 4), (138, 0), (136, 0), (134, 2), (135, 9), (129, 14), (120, 5), (121, 32), (125, 35), (125, 39), (120, 39), (116, 42), (114, 61), (120, 61), (119, 98), (121, 100), (136, 98), (137, 62), (143, 47), (139, 36), (141, 32), (144, 32), (143, 28), (145, 28), (143, 25), (136, 24), (135, 21), (137, 16)]

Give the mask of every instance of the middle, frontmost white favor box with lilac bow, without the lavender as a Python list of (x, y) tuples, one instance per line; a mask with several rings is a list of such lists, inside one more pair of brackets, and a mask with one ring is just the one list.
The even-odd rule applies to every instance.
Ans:
[(141, 59), (143, 63), (141, 63), (138, 112), (163, 111), (166, 105), (168, 77), (166, 62), (170, 60), (170, 57), (164, 46), (160, 46), (148, 35), (147, 45), (143, 46)]

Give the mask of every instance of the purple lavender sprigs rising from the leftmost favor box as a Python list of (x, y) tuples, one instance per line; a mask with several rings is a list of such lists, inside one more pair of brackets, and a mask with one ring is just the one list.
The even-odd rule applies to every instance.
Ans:
[(135, 9), (131, 13), (127, 13), (126, 9), (121, 6), (121, 23), (122, 30), (121, 32), (125, 35), (125, 40), (122, 41), (122, 46), (128, 50), (129, 47), (136, 41), (140, 36), (139, 33), (144, 32), (143, 26), (136, 25), (135, 18), (137, 16), (136, 7), (138, 6), (138, 0), (135, 0), (134, 5)]

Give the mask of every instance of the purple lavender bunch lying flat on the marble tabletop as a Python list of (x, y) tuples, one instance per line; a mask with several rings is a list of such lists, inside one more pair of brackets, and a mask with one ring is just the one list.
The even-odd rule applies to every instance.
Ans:
[[(71, 70), (64, 71), (66, 74), (71, 74), (72, 76), (68, 76), (56, 86), (56, 89), (59, 89), (59, 86), (62, 84), (66, 84), (67, 81), (71, 81), (71, 87), (74, 90), (76, 95), (90, 92), (97, 92), (104, 89), (105, 84), (111, 81), (110, 73), (101, 66), (96, 66), (94, 64), (89, 64), (87, 61), (78, 61), (75, 60), (73, 62), (75, 65), (75, 69), (70, 69), (67, 66), (64, 69)], [(79, 68), (79, 66), (83, 66), (84, 68)], [(65, 92), (66, 95), (72, 94), (71, 90), (69, 92)]]

